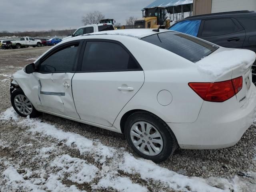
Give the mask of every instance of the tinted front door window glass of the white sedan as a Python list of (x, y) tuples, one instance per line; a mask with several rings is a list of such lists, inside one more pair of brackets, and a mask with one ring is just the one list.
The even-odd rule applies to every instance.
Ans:
[(37, 72), (56, 73), (74, 72), (79, 43), (72, 44), (54, 52), (38, 66)]

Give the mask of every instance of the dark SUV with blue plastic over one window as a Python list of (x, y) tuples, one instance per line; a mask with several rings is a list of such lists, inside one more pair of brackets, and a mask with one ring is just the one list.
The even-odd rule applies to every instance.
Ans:
[[(256, 52), (256, 12), (234, 11), (187, 17), (170, 30), (183, 32), (228, 48), (243, 48)], [(256, 84), (256, 62), (252, 66), (252, 81)]]

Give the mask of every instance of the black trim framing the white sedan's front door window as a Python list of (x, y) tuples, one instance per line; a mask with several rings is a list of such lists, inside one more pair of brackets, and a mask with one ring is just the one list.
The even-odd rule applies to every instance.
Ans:
[[(74, 71), (58, 71), (58, 72), (39, 72), (38, 68), (39, 66), (42, 64), (42, 62), (44, 62), (47, 58), (49, 58), (50, 56), (52, 56), (53, 54), (55, 54), (56, 52), (62, 50), (63, 48), (67, 47), (67, 46), (72, 46), (74, 44), (78, 43), (78, 50), (76, 52), (76, 61), (74, 63)], [(45, 54), (42, 58), (40, 58), (40, 60), (38, 60), (39, 64), (36, 67), (36, 72), (40, 73), (40, 74), (53, 74), (53, 73), (75, 73), (78, 67), (78, 62), (79, 62), (79, 58), (80, 58), (80, 53), (81, 53), (81, 48), (82, 45), (84, 43), (84, 40), (75, 40), (75, 41), (71, 41), (71, 42), (67, 42), (64, 44), (61, 44), (60, 46), (52, 49), (50, 52), (48, 52), (47, 54)]]

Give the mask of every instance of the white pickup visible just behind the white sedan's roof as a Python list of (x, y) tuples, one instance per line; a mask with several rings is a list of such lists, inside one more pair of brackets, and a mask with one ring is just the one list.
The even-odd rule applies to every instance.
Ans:
[(110, 31), (110, 30), (115, 30), (114, 26), (111, 23), (101, 23), (101, 24), (81, 26), (72, 35), (63, 38), (62, 40), (66, 40), (66, 39), (83, 35), (83, 34), (100, 32), (100, 31)]

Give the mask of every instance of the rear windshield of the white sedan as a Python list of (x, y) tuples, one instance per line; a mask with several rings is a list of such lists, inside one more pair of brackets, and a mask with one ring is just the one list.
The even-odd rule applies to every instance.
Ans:
[(146, 42), (173, 52), (187, 60), (197, 62), (219, 47), (178, 32), (163, 32), (142, 38)]

